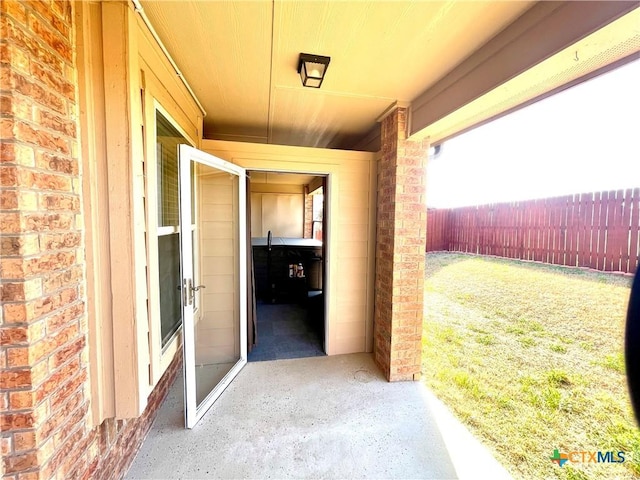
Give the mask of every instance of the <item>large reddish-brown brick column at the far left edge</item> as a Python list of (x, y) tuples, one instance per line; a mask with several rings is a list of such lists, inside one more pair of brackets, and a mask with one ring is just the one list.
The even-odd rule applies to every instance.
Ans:
[(72, 478), (94, 441), (72, 8), (0, 5), (0, 443), (12, 479)]

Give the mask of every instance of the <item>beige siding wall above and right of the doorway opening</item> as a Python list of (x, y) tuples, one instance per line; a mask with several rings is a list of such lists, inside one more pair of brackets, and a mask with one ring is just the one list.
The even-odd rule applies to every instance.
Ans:
[(203, 140), (202, 149), (248, 170), (328, 175), (326, 351), (371, 351), (375, 154)]

